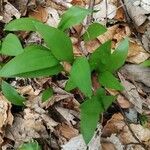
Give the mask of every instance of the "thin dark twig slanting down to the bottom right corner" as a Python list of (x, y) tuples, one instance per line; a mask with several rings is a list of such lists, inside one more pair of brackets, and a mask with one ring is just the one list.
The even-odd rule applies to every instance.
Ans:
[(119, 109), (120, 109), (120, 111), (121, 111), (121, 114), (123, 115), (123, 118), (124, 118), (124, 122), (125, 122), (125, 124), (128, 126), (128, 129), (129, 129), (129, 131), (131, 132), (132, 136), (135, 138), (136, 141), (138, 141), (139, 145), (141, 145), (145, 150), (148, 150), (147, 146), (146, 146), (144, 143), (142, 143), (142, 142), (139, 140), (139, 138), (135, 135), (135, 133), (132, 131), (132, 129), (131, 129), (131, 127), (130, 127), (130, 124), (129, 124), (128, 121), (127, 121), (126, 115), (125, 115), (125, 113), (123, 112), (123, 110), (122, 110), (122, 108), (120, 107), (120, 105), (118, 104), (118, 102), (117, 102), (117, 105), (119, 106)]

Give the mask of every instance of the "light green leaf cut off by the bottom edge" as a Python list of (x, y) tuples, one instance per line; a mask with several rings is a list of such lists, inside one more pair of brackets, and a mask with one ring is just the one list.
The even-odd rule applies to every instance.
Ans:
[(17, 150), (42, 150), (37, 141), (22, 144)]

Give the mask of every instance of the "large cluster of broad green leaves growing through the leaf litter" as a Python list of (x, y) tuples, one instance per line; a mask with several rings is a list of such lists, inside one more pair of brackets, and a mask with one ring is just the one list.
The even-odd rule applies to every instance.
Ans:
[[(32, 18), (14, 20), (6, 25), (5, 30), (36, 31), (43, 37), (46, 47), (31, 45), (22, 48), (15, 35), (11, 35), (11, 38), (8, 35), (2, 42), (2, 47), (6, 49), (2, 48), (0, 51), (2, 54), (15, 56), (2, 67), (0, 70), (1, 77), (31, 78), (52, 76), (64, 71), (61, 62), (67, 61), (72, 65), (65, 89), (70, 91), (78, 88), (85, 95), (85, 101), (81, 104), (80, 127), (86, 144), (89, 143), (93, 136), (100, 113), (106, 111), (115, 100), (114, 96), (106, 95), (104, 88), (123, 90), (122, 85), (114, 74), (124, 64), (129, 46), (128, 40), (124, 39), (111, 53), (111, 41), (107, 41), (98, 47), (90, 55), (89, 59), (85, 56), (75, 58), (71, 40), (64, 31), (73, 25), (81, 23), (90, 12), (84, 8), (71, 7), (63, 14), (58, 28), (45, 25)], [(101, 24), (93, 23), (80, 38), (87, 42), (106, 31), (107, 29)], [(11, 40), (8, 40), (8, 37)], [(11, 41), (19, 43), (14, 48), (17, 51), (9, 47), (11, 45), (9, 42)], [(19, 47), (20, 50), (18, 49)], [(93, 91), (92, 88), (91, 76), (93, 71), (98, 74), (98, 80), (102, 85), (97, 91)], [(3, 88), (3, 93), (7, 93), (8, 90), (9, 88)], [(51, 92), (47, 92), (43, 96), (44, 101), (51, 96)], [(12, 100), (14, 99), (10, 101), (12, 102)], [(18, 104), (22, 103), (21, 99), (20, 101)]]

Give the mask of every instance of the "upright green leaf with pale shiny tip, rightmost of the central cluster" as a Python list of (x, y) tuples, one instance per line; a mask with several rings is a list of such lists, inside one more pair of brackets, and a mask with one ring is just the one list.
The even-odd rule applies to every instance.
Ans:
[(126, 38), (119, 43), (118, 47), (111, 55), (110, 61), (107, 65), (108, 70), (110, 72), (116, 71), (125, 63), (128, 54), (128, 49), (129, 49), (129, 42), (128, 39)]

